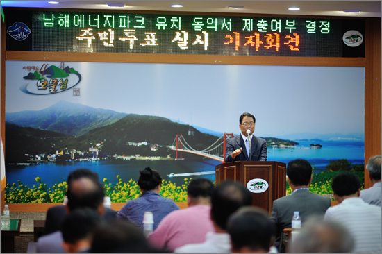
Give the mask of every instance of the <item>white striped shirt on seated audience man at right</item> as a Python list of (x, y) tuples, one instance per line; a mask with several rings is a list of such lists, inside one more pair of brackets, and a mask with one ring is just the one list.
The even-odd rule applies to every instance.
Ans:
[(381, 253), (381, 208), (361, 198), (346, 198), (328, 208), (324, 219), (338, 221), (354, 237), (354, 253)]

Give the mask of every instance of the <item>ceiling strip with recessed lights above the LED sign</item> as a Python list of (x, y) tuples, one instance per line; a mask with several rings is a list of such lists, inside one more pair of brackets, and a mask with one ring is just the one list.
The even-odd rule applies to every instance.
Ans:
[[(48, 0), (47, 0), (48, 1)], [(381, 1), (59, 1), (53, 5), (47, 1), (1, 1), (3, 7), (34, 8), (80, 8), (103, 10), (156, 10), (181, 12), (229, 12), (277, 15), (319, 15), (338, 17), (381, 17)], [(108, 7), (106, 3), (124, 3), (124, 7)], [(182, 4), (183, 8), (170, 5)], [(245, 6), (229, 9), (226, 6)], [(300, 10), (288, 10), (298, 7)], [(360, 10), (359, 13), (344, 13), (342, 10)]]

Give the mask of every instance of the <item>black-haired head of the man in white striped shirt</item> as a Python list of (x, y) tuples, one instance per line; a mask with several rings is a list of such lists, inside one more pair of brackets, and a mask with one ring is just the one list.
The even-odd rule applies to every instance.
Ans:
[(339, 173), (333, 177), (331, 188), (333, 189), (333, 194), (338, 196), (353, 195), (360, 189), (360, 180), (354, 173)]

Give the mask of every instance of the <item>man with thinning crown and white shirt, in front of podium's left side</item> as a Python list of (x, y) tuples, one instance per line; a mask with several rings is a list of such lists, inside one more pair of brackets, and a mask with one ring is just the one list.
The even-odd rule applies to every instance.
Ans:
[(215, 232), (207, 232), (206, 241), (201, 244), (186, 244), (174, 252), (230, 253), (231, 239), (227, 232), (227, 221), (238, 208), (251, 203), (251, 194), (240, 183), (226, 181), (217, 185), (211, 196), (211, 219)]

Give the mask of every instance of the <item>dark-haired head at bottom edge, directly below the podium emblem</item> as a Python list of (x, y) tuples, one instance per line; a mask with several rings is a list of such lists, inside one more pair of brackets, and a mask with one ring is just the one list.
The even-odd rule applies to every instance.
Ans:
[(274, 223), (265, 210), (248, 206), (239, 208), (229, 217), (227, 230), (233, 250), (247, 248), (262, 253), (269, 251), (272, 236), (276, 233)]

